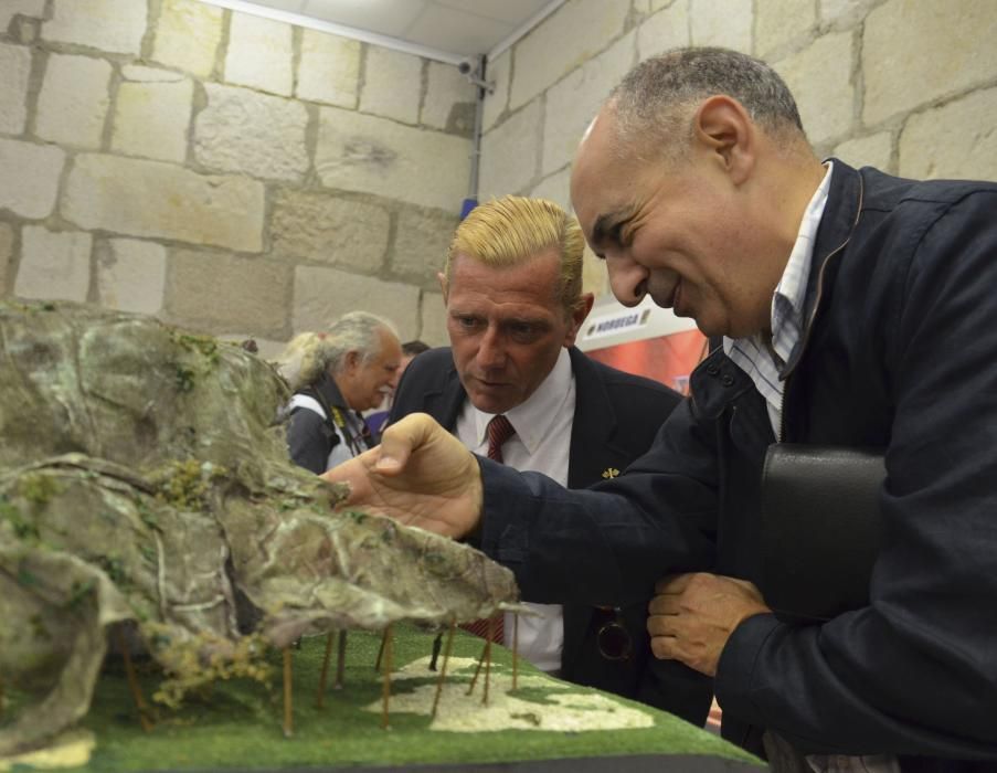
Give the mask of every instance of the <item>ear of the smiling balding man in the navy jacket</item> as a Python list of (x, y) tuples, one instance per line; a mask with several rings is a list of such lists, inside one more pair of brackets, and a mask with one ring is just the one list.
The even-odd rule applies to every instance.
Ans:
[(733, 97), (703, 99), (692, 117), (693, 141), (708, 150), (735, 186), (751, 174), (757, 152), (757, 127)]

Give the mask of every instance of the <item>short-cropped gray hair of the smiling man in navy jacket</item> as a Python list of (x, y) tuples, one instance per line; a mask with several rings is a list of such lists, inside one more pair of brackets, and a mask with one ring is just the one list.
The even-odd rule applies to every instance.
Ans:
[(778, 74), (761, 60), (717, 47), (673, 49), (627, 73), (608, 99), (617, 138), (682, 157), (692, 136), (692, 108), (717, 94), (736, 99), (773, 136), (806, 141), (796, 100)]

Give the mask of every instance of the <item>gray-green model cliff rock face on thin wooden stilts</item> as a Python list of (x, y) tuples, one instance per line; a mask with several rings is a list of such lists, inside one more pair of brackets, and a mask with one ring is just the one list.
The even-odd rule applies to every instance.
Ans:
[[(241, 348), (155, 319), (0, 304), (0, 754), (81, 718), (131, 621), (173, 702), (258, 676), (266, 646), (513, 602), (481, 553), (354, 510), (287, 460), (287, 390)], [(0, 699), (2, 700), (2, 699)]]

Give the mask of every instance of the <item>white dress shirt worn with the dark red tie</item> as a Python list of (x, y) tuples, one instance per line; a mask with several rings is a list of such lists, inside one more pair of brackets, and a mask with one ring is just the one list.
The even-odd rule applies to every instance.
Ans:
[[(574, 420), (575, 384), (568, 349), (561, 349), (547, 379), (526, 402), (506, 412), (516, 434), (502, 446), (502, 463), (520, 470), (543, 473), (568, 485), (571, 425)], [(468, 400), (457, 416), (457, 437), (476, 454), (488, 454), (488, 422)], [(527, 600), (528, 601), (528, 600)], [(561, 669), (564, 616), (560, 604), (529, 604), (538, 617), (519, 617), (519, 653), (544, 671)], [(512, 646), (512, 615), (506, 615), (505, 642)]]

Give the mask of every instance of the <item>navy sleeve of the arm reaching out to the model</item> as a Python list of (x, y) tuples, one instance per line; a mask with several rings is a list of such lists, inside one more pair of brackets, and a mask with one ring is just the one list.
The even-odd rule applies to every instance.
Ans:
[(539, 603), (625, 606), (646, 600), (664, 574), (711, 568), (715, 464), (688, 403), (646, 455), (590, 489), (480, 459), (481, 550)]

